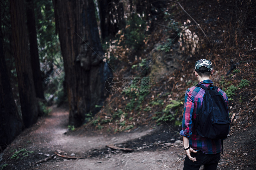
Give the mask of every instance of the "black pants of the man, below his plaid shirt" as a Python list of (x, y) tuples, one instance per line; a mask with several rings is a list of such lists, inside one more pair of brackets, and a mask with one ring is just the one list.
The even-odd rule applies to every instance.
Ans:
[(201, 165), (204, 165), (204, 170), (217, 169), (218, 162), (221, 158), (221, 153), (205, 154), (200, 152), (201, 151), (197, 153), (190, 153), (191, 157), (196, 158), (195, 162), (189, 160), (188, 156), (186, 156), (183, 170), (199, 170)]

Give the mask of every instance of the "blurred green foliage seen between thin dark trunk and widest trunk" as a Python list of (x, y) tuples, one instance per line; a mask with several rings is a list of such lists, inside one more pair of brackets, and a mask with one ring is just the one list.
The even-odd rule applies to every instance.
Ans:
[[(54, 95), (54, 101), (60, 106), (67, 102), (67, 97), (63, 89), (65, 74), (59, 37), (56, 34), (53, 4), (50, 0), (36, 0), (34, 3), (40, 67), (46, 75), (45, 96)], [(52, 68), (54, 73), (51, 73)]]

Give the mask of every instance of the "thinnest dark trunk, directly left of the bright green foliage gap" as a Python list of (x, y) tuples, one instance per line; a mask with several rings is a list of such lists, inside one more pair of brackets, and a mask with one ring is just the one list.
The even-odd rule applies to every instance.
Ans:
[(29, 33), (29, 50), (31, 57), (31, 67), (33, 80), (35, 84), (36, 97), (44, 98), (43, 90), (43, 78), (41, 76), (40, 62), (38, 55), (38, 44), (37, 44), (37, 35), (36, 35), (36, 26), (35, 26), (35, 11), (34, 11), (34, 2), (33, 0), (26, 0), (26, 16), (27, 16), (27, 27)]

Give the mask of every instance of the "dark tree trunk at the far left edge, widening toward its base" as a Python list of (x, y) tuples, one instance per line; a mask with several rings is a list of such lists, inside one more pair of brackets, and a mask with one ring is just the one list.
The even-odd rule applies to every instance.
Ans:
[(0, 152), (12, 142), (22, 129), (23, 122), (14, 101), (0, 35)]

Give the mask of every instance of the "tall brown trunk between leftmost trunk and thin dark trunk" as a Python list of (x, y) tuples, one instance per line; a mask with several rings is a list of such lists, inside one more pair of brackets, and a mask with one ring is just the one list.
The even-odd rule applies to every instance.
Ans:
[(38, 103), (32, 77), (23, 0), (10, 0), (12, 36), (22, 118), (25, 127), (38, 118)]

